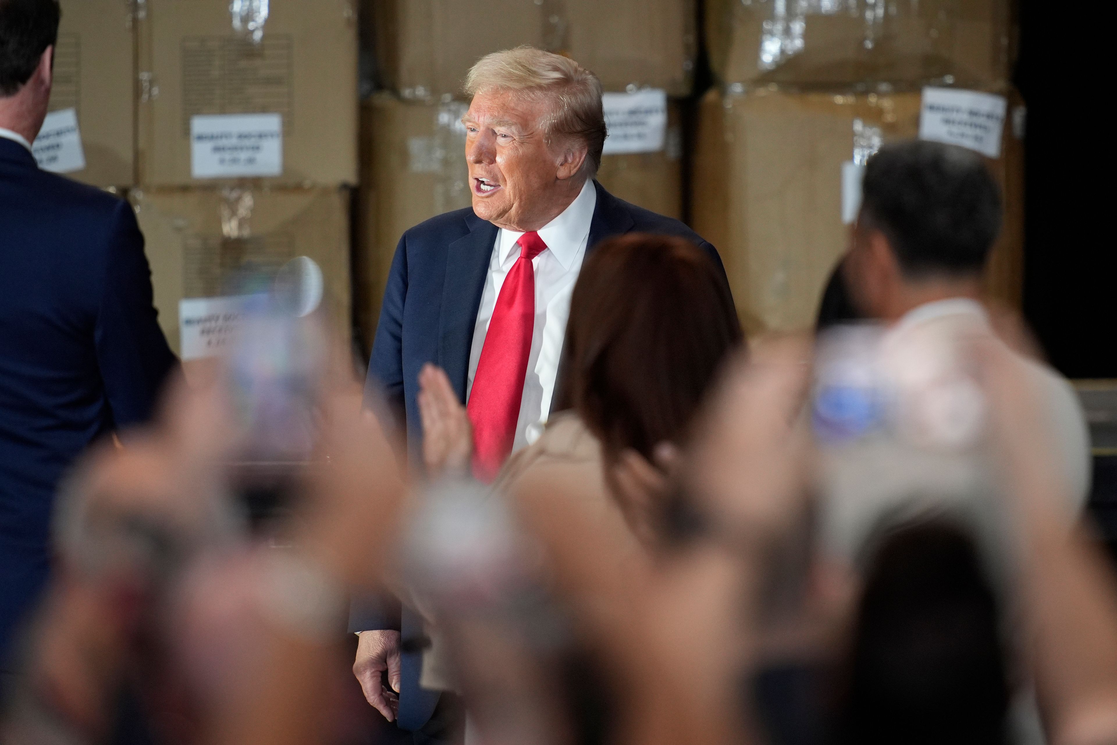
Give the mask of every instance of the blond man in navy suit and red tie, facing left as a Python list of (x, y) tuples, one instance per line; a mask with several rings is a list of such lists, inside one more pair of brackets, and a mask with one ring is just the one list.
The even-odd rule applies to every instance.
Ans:
[[(613, 236), (651, 232), (687, 238), (722, 265), (714, 247), (681, 222), (623, 202), (593, 179), (607, 132), (592, 73), (518, 48), (481, 59), (466, 93), (472, 207), (428, 220), (400, 240), (369, 399), (386, 399), (388, 418), (417, 456), (419, 372), (428, 363), (442, 367), (469, 413), (474, 474), (486, 480), (538, 437), (552, 410), (570, 297), (586, 251)], [(431, 742), (423, 732), (438, 696), (419, 688), (418, 651), (400, 651), (401, 631), (404, 641), (421, 637), (418, 618), (407, 609), (390, 620), (355, 608), (351, 629), (363, 631), (354, 674), (370, 704), (416, 732), (413, 742)], [(438, 718), (433, 726), (441, 727)]]

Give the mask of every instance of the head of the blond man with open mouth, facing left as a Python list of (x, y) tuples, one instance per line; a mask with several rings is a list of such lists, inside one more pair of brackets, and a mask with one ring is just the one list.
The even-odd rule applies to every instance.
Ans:
[(466, 94), (474, 212), (499, 228), (538, 230), (601, 164), (601, 82), (572, 59), (518, 47), (483, 57)]

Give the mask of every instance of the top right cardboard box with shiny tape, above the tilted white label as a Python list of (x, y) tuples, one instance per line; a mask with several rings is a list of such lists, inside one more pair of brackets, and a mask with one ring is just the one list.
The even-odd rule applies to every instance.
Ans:
[(725, 83), (976, 87), (1010, 75), (1009, 0), (706, 3), (710, 66)]

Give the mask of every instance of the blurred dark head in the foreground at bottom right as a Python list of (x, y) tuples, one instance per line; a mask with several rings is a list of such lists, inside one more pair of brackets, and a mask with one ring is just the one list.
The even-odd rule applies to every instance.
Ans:
[(1005, 742), (1003, 619), (970, 532), (919, 519), (873, 544), (840, 742)]

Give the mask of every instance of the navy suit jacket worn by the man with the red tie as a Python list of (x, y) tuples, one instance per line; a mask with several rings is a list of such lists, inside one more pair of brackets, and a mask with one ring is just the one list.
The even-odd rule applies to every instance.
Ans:
[[(629, 232), (680, 236), (722, 267), (714, 247), (678, 220), (617, 199), (600, 183), (594, 187), (598, 203), (586, 250)], [(395, 249), (369, 362), (366, 398), (370, 405), (386, 400), (386, 418), (407, 433), (412, 453), (422, 438), (417, 399), (422, 366), (432, 362), (446, 370), (458, 399), (466, 400), (474, 326), (497, 231), (472, 209), (464, 209), (408, 230)], [(420, 632), (418, 619), (408, 611), (401, 622), (354, 605), (350, 620), (353, 631), (401, 627), (404, 640)], [(438, 700), (418, 688), (420, 667), (418, 652), (403, 655), (399, 723), (404, 729), (421, 727)]]

